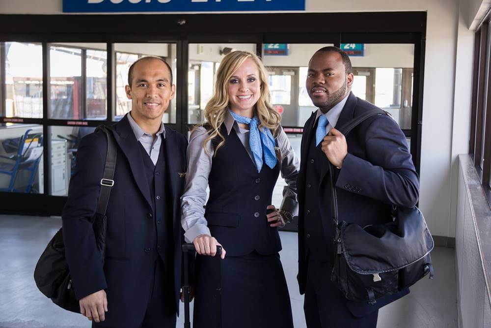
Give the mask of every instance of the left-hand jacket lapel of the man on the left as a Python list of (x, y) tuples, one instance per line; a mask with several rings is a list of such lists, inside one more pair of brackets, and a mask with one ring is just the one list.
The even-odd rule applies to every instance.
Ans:
[(153, 209), (152, 200), (150, 199), (150, 189), (145, 177), (145, 167), (143, 166), (143, 159), (141, 158), (139, 149), (140, 145), (138, 145), (130, 122), (125, 116), (115, 126), (116, 133), (114, 133), (114, 138), (130, 163), (131, 172), (138, 189), (140, 189), (148, 205)]

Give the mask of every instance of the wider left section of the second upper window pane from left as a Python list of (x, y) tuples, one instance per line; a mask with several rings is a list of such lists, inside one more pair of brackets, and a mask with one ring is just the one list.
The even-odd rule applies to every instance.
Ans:
[(52, 119), (84, 119), (82, 49), (50, 47)]

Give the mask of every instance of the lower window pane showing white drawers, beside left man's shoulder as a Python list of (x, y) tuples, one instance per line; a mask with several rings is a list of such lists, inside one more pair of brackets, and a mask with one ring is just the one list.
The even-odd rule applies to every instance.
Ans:
[(95, 127), (51, 126), (50, 195), (67, 196), (70, 178), (75, 169), (80, 140)]

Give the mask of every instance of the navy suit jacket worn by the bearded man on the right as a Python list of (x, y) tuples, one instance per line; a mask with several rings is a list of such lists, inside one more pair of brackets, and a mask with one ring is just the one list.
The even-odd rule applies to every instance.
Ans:
[[(361, 114), (376, 109), (373, 104), (350, 93), (336, 123), (340, 127)], [(307, 263), (303, 231), (305, 202), (305, 170), (307, 154), (312, 138), (316, 112), (306, 121), (301, 141), (299, 195), (299, 286), (305, 292)], [(354, 222), (364, 227), (383, 224), (391, 220), (391, 205), (411, 208), (419, 198), (419, 179), (412, 163), (406, 137), (399, 125), (387, 115), (366, 119), (346, 137), (348, 155), (341, 170), (336, 169), (339, 221)], [(333, 253), (333, 223), (331, 215), (331, 190), (329, 162), (324, 158), (319, 184), (319, 211), (323, 224), (326, 247)], [(330, 279), (330, 277), (325, 277)], [(398, 294), (377, 300), (375, 305), (366, 302), (348, 301), (350, 311), (362, 317), (383, 305), (409, 293)]]

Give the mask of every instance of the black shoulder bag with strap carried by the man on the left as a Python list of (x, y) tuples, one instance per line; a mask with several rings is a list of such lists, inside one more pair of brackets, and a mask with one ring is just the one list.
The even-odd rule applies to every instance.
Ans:
[[(101, 190), (97, 201), (97, 209), (91, 221), (94, 227), (96, 245), (101, 254), (102, 263), (106, 254), (106, 209), (108, 207), (111, 187), (114, 185), (114, 170), (116, 168), (116, 142), (109, 128), (100, 125), (97, 130), (106, 133), (108, 137), (108, 152), (104, 166)], [(97, 131), (96, 130), (96, 131)], [(39, 258), (34, 269), (34, 281), (37, 288), (46, 297), (65, 310), (80, 313), (79, 301), (75, 296), (74, 286), (65, 258), (65, 245), (63, 243), (62, 228), (50, 240), (48, 246)]]

